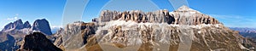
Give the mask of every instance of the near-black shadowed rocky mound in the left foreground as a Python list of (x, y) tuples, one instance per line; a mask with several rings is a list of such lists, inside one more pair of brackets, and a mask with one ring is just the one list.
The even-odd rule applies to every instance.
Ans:
[(61, 51), (61, 48), (55, 47), (41, 32), (33, 32), (26, 35), (23, 41), (24, 43), (19, 49), (21, 51)]

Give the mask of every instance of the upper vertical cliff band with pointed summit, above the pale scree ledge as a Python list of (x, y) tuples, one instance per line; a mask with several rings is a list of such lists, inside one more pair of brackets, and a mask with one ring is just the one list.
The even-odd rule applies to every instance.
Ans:
[[(140, 10), (131, 10), (125, 12), (104, 10), (99, 18), (100, 22), (108, 22), (110, 20), (131, 20), (137, 23), (168, 23), (176, 25), (200, 25), (200, 24), (220, 24), (207, 14), (182, 6), (173, 12), (168, 10), (158, 10), (154, 12), (144, 13)], [(95, 21), (95, 20), (94, 20)]]

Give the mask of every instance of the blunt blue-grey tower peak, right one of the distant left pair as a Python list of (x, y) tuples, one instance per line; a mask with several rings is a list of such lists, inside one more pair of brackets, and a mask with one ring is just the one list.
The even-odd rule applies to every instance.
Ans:
[(46, 35), (52, 34), (49, 27), (49, 22), (48, 20), (45, 20), (45, 19), (36, 20), (32, 25), (31, 31), (41, 31)]

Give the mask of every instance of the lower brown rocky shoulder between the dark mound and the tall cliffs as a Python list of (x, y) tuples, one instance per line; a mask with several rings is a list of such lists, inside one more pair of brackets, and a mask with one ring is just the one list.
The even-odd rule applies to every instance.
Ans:
[(56, 35), (55, 45), (65, 50), (76, 50), (87, 43), (87, 38), (94, 35), (96, 26), (94, 23), (75, 22), (68, 24), (62, 31), (58, 31)]

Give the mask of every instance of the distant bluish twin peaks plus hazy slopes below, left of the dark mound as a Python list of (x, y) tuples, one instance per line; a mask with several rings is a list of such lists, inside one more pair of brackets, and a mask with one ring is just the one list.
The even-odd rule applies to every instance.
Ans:
[(28, 21), (23, 23), (22, 20), (16, 20), (4, 26), (3, 30), (0, 31), (0, 51), (12, 51), (20, 48), (22, 39), (32, 31), (41, 31), (45, 35), (52, 34), (49, 22), (45, 19), (36, 20), (33, 26)]

